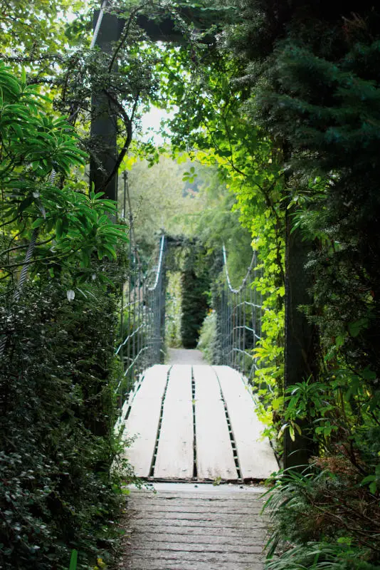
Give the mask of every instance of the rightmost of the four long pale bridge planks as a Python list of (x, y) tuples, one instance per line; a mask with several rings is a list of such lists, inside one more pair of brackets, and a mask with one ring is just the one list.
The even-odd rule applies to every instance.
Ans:
[(213, 366), (221, 384), (231, 420), (233, 437), (243, 479), (266, 479), (278, 471), (278, 463), (264, 425), (255, 412), (255, 404), (241, 375), (229, 366)]

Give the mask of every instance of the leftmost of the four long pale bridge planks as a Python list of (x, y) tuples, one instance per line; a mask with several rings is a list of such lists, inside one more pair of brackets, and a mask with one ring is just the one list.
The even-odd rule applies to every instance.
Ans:
[(137, 477), (149, 476), (168, 370), (169, 366), (156, 364), (145, 371), (125, 423), (123, 437), (137, 436), (125, 453)]

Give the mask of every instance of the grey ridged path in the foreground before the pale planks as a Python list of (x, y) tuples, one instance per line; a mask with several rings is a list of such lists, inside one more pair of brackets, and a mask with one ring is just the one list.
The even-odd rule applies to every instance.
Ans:
[(261, 489), (154, 484), (132, 490), (120, 570), (263, 570)]

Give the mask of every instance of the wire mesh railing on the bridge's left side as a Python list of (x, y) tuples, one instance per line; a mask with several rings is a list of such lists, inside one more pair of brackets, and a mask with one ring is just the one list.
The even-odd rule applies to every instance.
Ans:
[(157, 264), (143, 271), (137, 249), (131, 247), (129, 279), (122, 294), (120, 329), (123, 341), (116, 349), (124, 370), (117, 385), (120, 407), (145, 368), (164, 358), (166, 240), (159, 244)]

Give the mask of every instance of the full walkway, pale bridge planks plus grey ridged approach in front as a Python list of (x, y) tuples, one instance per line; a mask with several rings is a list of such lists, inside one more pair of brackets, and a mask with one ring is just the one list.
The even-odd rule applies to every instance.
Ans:
[(278, 465), (241, 375), (152, 366), (125, 427), (126, 437), (139, 434), (127, 456), (156, 492), (131, 490), (120, 569), (263, 570), (262, 487), (252, 482)]

